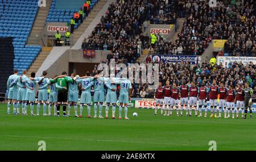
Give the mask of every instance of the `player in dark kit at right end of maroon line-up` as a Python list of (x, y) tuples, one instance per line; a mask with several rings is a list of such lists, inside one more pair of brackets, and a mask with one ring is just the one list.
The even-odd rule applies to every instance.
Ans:
[(243, 92), (245, 93), (245, 119), (247, 115), (247, 109), (250, 109), (250, 119), (253, 114), (253, 110), (251, 110), (251, 104), (253, 100), (253, 88), (249, 87), (249, 83), (245, 83), (245, 89), (243, 89)]

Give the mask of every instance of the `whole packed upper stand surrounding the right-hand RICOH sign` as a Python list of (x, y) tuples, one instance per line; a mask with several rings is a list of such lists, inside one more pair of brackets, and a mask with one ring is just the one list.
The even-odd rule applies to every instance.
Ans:
[[(82, 48), (102, 49), (103, 45), (107, 45), (108, 50), (116, 53), (118, 50), (115, 47), (121, 40), (123, 42), (127, 41), (127, 44), (131, 45), (131, 42), (133, 42), (129, 41), (131, 37), (135, 40), (135, 44), (138, 44), (141, 25), (149, 17), (151, 24), (176, 24), (177, 14), (179, 18), (185, 18), (182, 31), (177, 35), (178, 39), (164, 41), (162, 37), (158, 36), (158, 41), (151, 49), (152, 54), (201, 55), (212, 39), (227, 39), (225, 56), (256, 56), (255, 1), (226, 0), (218, 2), (216, 8), (209, 8), (206, 3), (206, 1), (196, 0), (143, 1), (140, 3), (117, 1), (113, 6), (109, 7), (109, 12), (102, 18), (101, 23), (97, 25), (92, 35), (85, 39)], [(134, 11), (133, 18), (124, 18), (125, 22), (128, 20), (129, 23), (126, 28), (126, 24), (122, 23), (123, 19), (116, 19), (116, 17), (126, 15), (126, 10), (129, 9), (131, 4), (133, 4)], [(178, 7), (172, 8), (172, 6)], [(236, 10), (236, 8), (240, 9)], [(173, 16), (168, 14), (169, 11), (172, 12)], [(167, 17), (170, 18), (170, 21), (167, 17), (164, 18), (165, 14), (168, 15)], [(159, 21), (161, 16), (162, 20)], [(120, 25), (117, 25), (117, 22)], [(117, 32), (113, 32), (113, 30)], [(112, 33), (112, 35), (109, 33)], [(108, 37), (108, 39), (104, 37)], [(113, 37), (115, 41), (113, 41)], [(143, 39), (143, 36), (140, 37), (140, 40), (142, 42), (149, 41)], [(124, 47), (122, 46), (121, 48), (123, 49)], [(142, 45), (142, 49), (146, 48), (150, 48), (150, 46)], [(234, 52), (234, 49), (237, 49), (236, 52)], [(135, 61), (136, 55), (133, 56), (133, 61)]]

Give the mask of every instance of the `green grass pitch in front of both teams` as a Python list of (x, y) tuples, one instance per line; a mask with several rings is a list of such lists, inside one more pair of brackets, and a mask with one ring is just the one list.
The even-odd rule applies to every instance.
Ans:
[(46, 150), (207, 151), (210, 140), (217, 150), (256, 150), (255, 119), (154, 116), (154, 109), (131, 108), (125, 121), (85, 118), (86, 108), (83, 118), (71, 112), (69, 118), (14, 116), (0, 104), (0, 150), (38, 150), (39, 140), (46, 141)]

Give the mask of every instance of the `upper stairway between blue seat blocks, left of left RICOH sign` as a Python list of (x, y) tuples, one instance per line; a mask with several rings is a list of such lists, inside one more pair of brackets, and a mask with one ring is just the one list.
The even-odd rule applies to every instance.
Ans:
[(27, 45), (34, 45), (35, 41), (33, 38), (40, 35), (44, 25), (46, 24), (46, 18), (49, 12), (49, 8), (51, 7), (52, 0), (46, 1), (46, 7), (39, 7), (38, 14), (36, 15), (35, 22), (33, 24), (30, 36), (27, 40)]

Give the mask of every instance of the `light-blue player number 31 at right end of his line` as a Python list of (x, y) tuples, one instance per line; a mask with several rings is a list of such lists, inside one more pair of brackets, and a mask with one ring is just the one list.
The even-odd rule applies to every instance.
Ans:
[(113, 79), (110, 78), (112, 83), (120, 84), (120, 91), (119, 91), (119, 120), (122, 119), (122, 106), (125, 104), (125, 120), (129, 120), (127, 117), (128, 108), (127, 105), (129, 100), (131, 99), (131, 82), (129, 79), (120, 78), (120, 79)]

